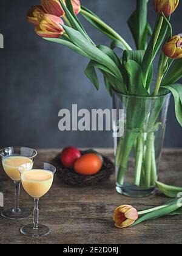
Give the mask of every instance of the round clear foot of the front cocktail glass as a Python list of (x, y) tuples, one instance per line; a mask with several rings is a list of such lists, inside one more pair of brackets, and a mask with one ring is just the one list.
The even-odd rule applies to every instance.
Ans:
[(50, 229), (44, 225), (39, 225), (38, 229), (34, 229), (33, 224), (30, 224), (22, 227), (21, 233), (32, 238), (40, 238), (42, 236), (49, 235)]

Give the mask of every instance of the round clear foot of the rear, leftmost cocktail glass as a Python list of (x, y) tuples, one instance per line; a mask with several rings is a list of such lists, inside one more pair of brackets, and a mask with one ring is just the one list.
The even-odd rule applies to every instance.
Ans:
[(1, 215), (6, 219), (21, 220), (29, 218), (32, 215), (32, 211), (26, 208), (21, 208), (18, 210), (18, 212), (15, 212), (15, 209), (8, 208), (2, 210)]

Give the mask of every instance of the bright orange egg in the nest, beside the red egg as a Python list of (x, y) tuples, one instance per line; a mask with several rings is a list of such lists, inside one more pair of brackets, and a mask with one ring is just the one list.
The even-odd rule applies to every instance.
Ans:
[(86, 154), (76, 160), (74, 169), (78, 174), (93, 175), (102, 167), (103, 162), (96, 154)]

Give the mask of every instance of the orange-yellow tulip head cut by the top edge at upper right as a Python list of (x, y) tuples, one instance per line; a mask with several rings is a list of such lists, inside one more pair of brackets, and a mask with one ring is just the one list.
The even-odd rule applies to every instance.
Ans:
[(180, 0), (155, 0), (155, 11), (161, 15), (164, 13), (166, 17), (171, 15), (178, 7)]

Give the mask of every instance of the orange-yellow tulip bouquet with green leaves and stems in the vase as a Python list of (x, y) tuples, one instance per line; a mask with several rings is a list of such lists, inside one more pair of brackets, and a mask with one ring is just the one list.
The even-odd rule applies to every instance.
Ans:
[[(117, 184), (121, 187), (132, 151), (135, 157), (133, 185), (142, 188), (155, 185), (158, 179), (155, 131), (161, 126), (158, 116), (165, 104), (163, 96), (169, 92), (174, 96), (176, 116), (182, 126), (182, 85), (178, 83), (182, 77), (182, 35), (173, 35), (170, 24), (179, 0), (153, 2), (157, 12), (153, 30), (147, 21), (148, 0), (136, 0), (136, 10), (129, 18), (136, 49), (95, 13), (83, 7), (79, 0), (42, 0), (41, 5), (28, 12), (28, 20), (35, 25), (36, 34), (52, 43), (63, 44), (90, 60), (85, 73), (97, 90), (96, 69), (99, 69), (110, 94), (116, 93), (118, 98), (122, 98), (121, 95), (133, 97), (132, 101), (123, 102), (127, 105), (126, 132), (124, 138), (118, 140), (116, 150)], [(96, 46), (78, 14), (112, 40), (110, 47)], [(116, 55), (115, 48), (120, 48), (123, 55)], [(152, 87), (153, 63), (158, 54), (158, 76)], [(155, 103), (152, 111), (146, 111), (150, 98), (155, 99)], [(150, 132), (146, 131), (146, 124)]]

